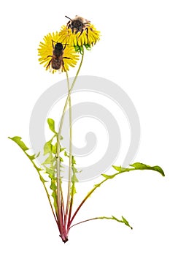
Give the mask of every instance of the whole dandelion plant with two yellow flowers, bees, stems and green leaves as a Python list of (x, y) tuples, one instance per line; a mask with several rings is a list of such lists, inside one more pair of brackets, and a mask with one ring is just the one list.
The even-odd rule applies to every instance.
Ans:
[[(68, 17), (67, 17), (68, 18)], [(47, 119), (48, 127), (52, 133), (50, 140), (45, 143), (43, 154), (46, 159), (41, 164), (37, 164), (36, 159), (38, 159), (39, 154), (28, 154), (28, 146), (23, 143), (22, 138), (15, 136), (10, 138), (15, 143), (20, 146), (26, 157), (31, 161), (36, 172), (39, 175), (40, 181), (42, 182), (45, 192), (47, 194), (48, 201), (50, 203), (50, 208), (53, 212), (53, 217), (58, 225), (58, 230), (61, 239), (64, 243), (68, 241), (69, 230), (75, 225), (79, 225), (83, 222), (88, 222), (95, 219), (113, 219), (117, 222), (121, 222), (126, 226), (131, 227), (125, 217), (114, 217), (110, 215), (109, 217), (92, 217), (90, 219), (84, 219), (81, 222), (74, 222), (80, 208), (88, 200), (90, 195), (101, 187), (109, 179), (113, 179), (116, 176), (130, 172), (133, 170), (155, 170), (164, 176), (163, 170), (159, 166), (144, 165), (140, 162), (129, 165), (129, 167), (117, 167), (115, 165), (111, 166), (113, 173), (112, 175), (102, 174), (102, 181), (95, 184), (94, 187), (82, 198), (79, 206), (73, 212), (72, 206), (74, 203), (74, 195), (76, 193), (77, 179), (77, 164), (74, 155), (72, 154), (72, 89), (76, 83), (77, 77), (79, 75), (80, 69), (82, 67), (82, 61), (84, 59), (85, 50), (90, 50), (96, 45), (100, 39), (100, 32), (96, 30), (95, 26), (90, 23), (89, 20), (76, 16), (74, 19), (69, 18), (69, 22), (66, 26), (62, 26), (60, 32), (49, 33), (44, 37), (43, 42), (40, 42), (38, 54), (39, 63), (43, 64), (46, 70), (50, 70), (52, 74), (55, 72), (65, 72), (68, 94), (66, 97), (66, 102), (63, 107), (63, 112), (61, 114), (61, 121), (59, 124), (58, 131), (55, 128), (55, 121), (52, 118)], [(80, 60), (79, 60), (80, 59)], [(80, 61), (77, 73), (74, 77), (72, 84), (69, 83), (69, 68), (75, 67), (77, 62)], [(62, 128), (63, 120), (67, 108), (69, 108), (69, 153), (66, 152), (65, 148), (62, 148)], [(62, 154), (62, 157), (61, 157)], [(66, 189), (66, 198), (63, 196), (63, 178), (62, 172), (64, 171), (63, 162), (69, 159), (69, 178)], [(64, 200), (66, 199), (66, 200)]]

